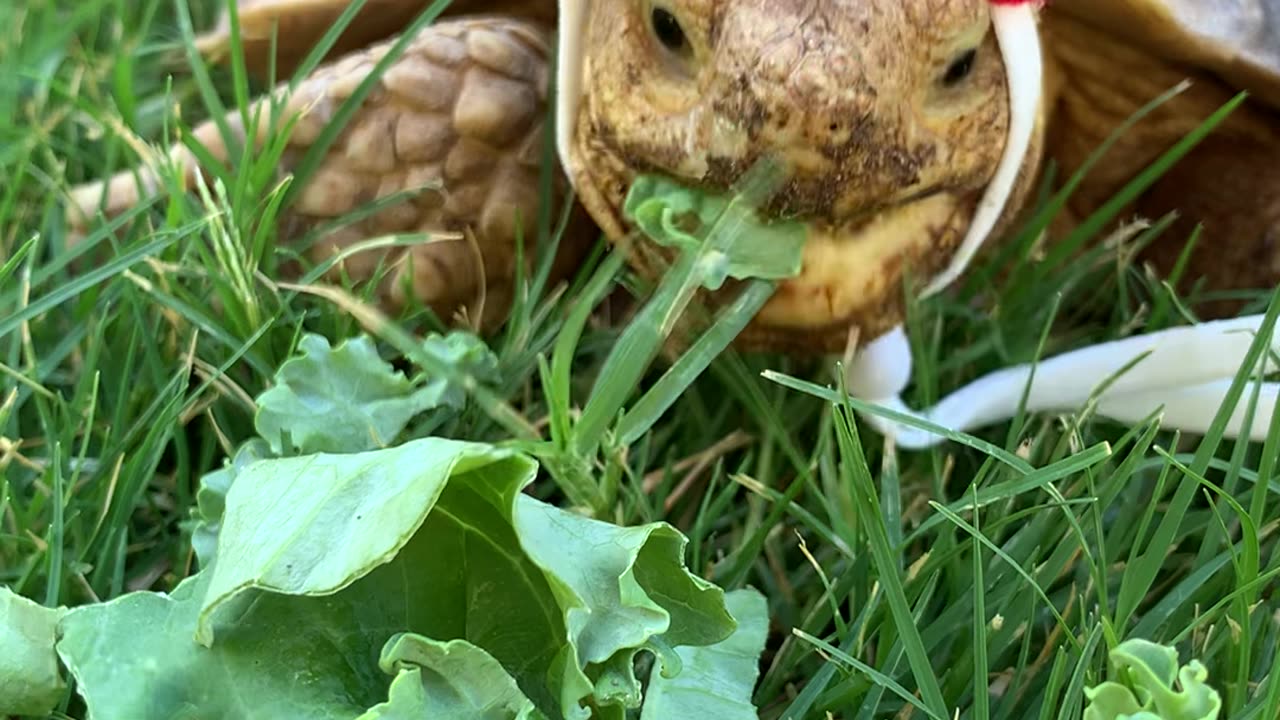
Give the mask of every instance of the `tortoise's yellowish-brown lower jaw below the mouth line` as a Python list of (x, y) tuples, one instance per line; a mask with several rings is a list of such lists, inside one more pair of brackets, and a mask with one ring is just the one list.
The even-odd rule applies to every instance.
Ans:
[[(577, 161), (570, 172), (577, 199), (604, 234), (628, 255), (636, 272), (658, 278), (669, 266), (669, 252), (640, 241), (625, 220), (623, 201), (637, 170), (605, 140), (586, 132), (575, 138)], [(992, 233), (1004, 232), (1016, 217), (1037, 167), (1038, 152), (1028, 154)], [(663, 174), (716, 191), (712, 183)], [(773, 297), (735, 345), (763, 351), (841, 352), (851, 332), (858, 333), (859, 342), (869, 342), (901, 324), (909, 293), (923, 296), (922, 291), (952, 266), (982, 211), (989, 181), (955, 177), (929, 187), (904, 188), (897, 196), (835, 217), (783, 213), (809, 227), (800, 274), (777, 284)], [(762, 204), (765, 217), (776, 217), (777, 193), (772, 197), (773, 202)], [(730, 302), (736, 292), (731, 283), (708, 301)]]

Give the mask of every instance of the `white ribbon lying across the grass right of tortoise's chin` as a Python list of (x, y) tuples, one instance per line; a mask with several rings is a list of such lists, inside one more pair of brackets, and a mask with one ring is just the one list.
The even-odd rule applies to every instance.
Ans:
[[(1091, 397), (1096, 413), (1112, 420), (1139, 423), (1162, 409), (1165, 429), (1204, 433), (1222, 406), (1239, 373), (1263, 315), (1216, 320), (1105, 342), (1066, 352), (1033, 365), (1015, 365), (984, 375), (952, 392), (924, 413), (901, 401), (911, 370), (906, 334), (896, 329), (877, 338), (849, 369), (849, 392), (873, 405), (901, 413), (954, 432), (969, 432), (1011, 419), (1027, 397), (1028, 413), (1073, 411)], [(1280, 352), (1280, 334), (1271, 342)], [(1139, 360), (1140, 359), (1140, 360)], [(1137, 364), (1129, 366), (1137, 360)], [(1276, 370), (1268, 355), (1261, 373)], [(1124, 370), (1124, 374), (1117, 375)], [(1260, 373), (1254, 373), (1257, 377)], [(1110, 386), (1094, 396), (1100, 386)], [(1251, 427), (1244, 427), (1252, 395), (1248, 386), (1226, 425), (1228, 437), (1261, 441), (1267, 436), (1280, 383), (1262, 383)], [(865, 413), (877, 432), (908, 450), (942, 443), (942, 436)]]

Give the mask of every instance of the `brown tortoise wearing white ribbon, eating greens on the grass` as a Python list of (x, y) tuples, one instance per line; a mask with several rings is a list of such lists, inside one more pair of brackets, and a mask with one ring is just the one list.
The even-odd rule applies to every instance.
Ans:
[[(239, 0), (247, 67), (261, 77), (274, 65), (284, 77), (349, 4)], [(292, 94), (280, 91), (298, 118), (284, 170), (426, 6), (369, 0), (325, 64)], [(223, 18), (200, 50), (225, 59), (229, 27)], [(454, 0), (364, 100), (288, 209), (282, 237), (440, 183), (442, 192), (333, 231), (312, 259), (385, 233), (462, 233), (394, 251), (380, 299), (389, 307), (417, 299), (445, 315), (461, 309), (493, 327), (522, 272), (516, 237), (532, 237), (548, 110), (556, 199), (572, 195), (575, 209), (557, 278), (575, 269), (598, 231), (636, 270), (662, 272), (660, 252), (627, 240), (621, 208), (637, 174), (723, 191), (756, 159), (777, 156), (786, 177), (764, 213), (806, 223), (804, 269), (780, 284), (737, 345), (836, 354), (856, 338), (847, 366), (854, 395), (975, 428), (1016, 409), (1029, 368), (982, 378), (929, 413), (910, 411), (899, 400), (911, 374), (905, 278), (928, 278), (925, 295), (943, 291), (988, 237), (1019, 219), (1046, 161), (1070, 177), (1126, 117), (1187, 78), (1188, 88), (1088, 173), (1052, 232), (1066, 232), (1244, 88), (1249, 99), (1129, 209), (1176, 210), (1181, 229), (1204, 225), (1189, 279), (1217, 290), (1276, 284), (1276, 37), (1280, 0)], [(238, 113), (228, 120), (244, 132)], [(225, 156), (215, 124), (195, 135)], [(196, 158), (182, 146), (174, 154), (193, 179)], [(146, 172), (78, 187), (72, 224), (83, 232), (99, 210), (119, 214), (154, 187)], [(1169, 272), (1180, 251), (1180, 242), (1157, 241), (1146, 260)], [(344, 272), (367, 277), (387, 259), (353, 255)], [(1248, 331), (1261, 325), (1258, 315), (1228, 315), (1041, 364), (1028, 409), (1074, 410), (1107, 374), (1155, 351), (1111, 386), (1100, 413), (1137, 421), (1164, 405), (1165, 427), (1202, 430), (1242, 364)], [(1263, 436), (1277, 387), (1263, 389), (1252, 429), (1238, 413), (1229, 434)], [(942, 439), (883, 414), (868, 419), (904, 447)]]

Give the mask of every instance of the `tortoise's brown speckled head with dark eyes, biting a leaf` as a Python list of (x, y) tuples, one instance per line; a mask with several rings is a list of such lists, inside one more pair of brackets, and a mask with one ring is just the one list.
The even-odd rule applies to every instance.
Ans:
[[(726, 191), (758, 160), (781, 163), (764, 213), (808, 223), (804, 270), (741, 340), (841, 348), (850, 328), (867, 340), (901, 322), (908, 273), (936, 279), (973, 245), (984, 193), (998, 202), (970, 234), (986, 237), (1020, 205), (1041, 123), (1011, 113), (1011, 33), (997, 38), (993, 23), (1007, 10), (992, 0), (562, 3), (562, 161), (614, 240), (627, 233), (621, 208), (637, 174)], [(1025, 17), (1020, 29), (1034, 36), (1029, 6)]]

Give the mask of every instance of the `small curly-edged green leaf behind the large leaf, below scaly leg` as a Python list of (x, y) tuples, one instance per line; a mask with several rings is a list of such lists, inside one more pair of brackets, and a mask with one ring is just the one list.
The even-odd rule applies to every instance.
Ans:
[[(479, 377), (497, 373), (497, 359), (463, 332), (428, 345)], [(358, 336), (330, 347), (323, 336), (303, 336), (302, 356), (276, 372), (276, 384), (257, 398), (256, 428), (276, 455), (358, 452), (392, 445), (415, 416), (436, 407), (460, 407), (462, 388), (443, 378), (410, 380)]]

